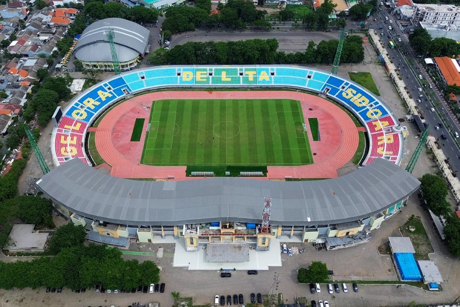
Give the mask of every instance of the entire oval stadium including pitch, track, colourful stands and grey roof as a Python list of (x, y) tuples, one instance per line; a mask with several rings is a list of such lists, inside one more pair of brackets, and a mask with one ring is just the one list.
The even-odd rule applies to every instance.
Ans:
[[(348, 121), (352, 124), (353, 121), (327, 99), (353, 114), (360, 127), (354, 126), (353, 131), (344, 129)], [(248, 102), (251, 100), (255, 101)], [(258, 100), (267, 102), (261, 106)], [(270, 111), (271, 107), (279, 108), (278, 112)], [(339, 112), (334, 111), (334, 107)], [(219, 111), (220, 108), (224, 111)], [(228, 108), (233, 111), (229, 113)], [(302, 112), (298, 108), (302, 108)], [(308, 112), (311, 116), (319, 114), (315, 113), (316, 108), (330, 111), (331, 117), (325, 117), (327, 124), (318, 116), (323, 142), (340, 140), (334, 152), (324, 153), (327, 159), (321, 156), (321, 146), (315, 145), (314, 124), (309, 121)], [(240, 109), (246, 112), (242, 115)], [(255, 116), (254, 121), (245, 123), (245, 118), (252, 118), (251, 109), (261, 109), (268, 115), (263, 116), (261, 122)], [(204, 111), (195, 115), (194, 110)], [(217, 119), (206, 120), (202, 115), (206, 114), (205, 110), (210, 110)], [(278, 146), (282, 150), (278, 151), (285, 153), (285, 156), (276, 156), (280, 160), (274, 161), (270, 161), (269, 155), (259, 153), (258, 147), (263, 144), (266, 149), (267, 144), (276, 142), (267, 143), (259, 137), (248, 139), (251, 136), (244, 135), (248, 130), (245, 125), (252, 122), (254, 127), (249, 131), (255, 131), (256, 135), (260, 125), (271, 130), (275, 121), (270, 121), (270, 112), (275, 112), (274, 117), (278, 118), (275, 125), (279, 128), (274, 134), (264, 136), (281, 142)], [(126, 114), (130, 114), (129, 117), (123, 117)], [(266, 170), (249, 172), (250, 178), (241, 178), (247, 176), (244, 170), (251, 170), (250, 167), (238, 169), (237, 174), (226, 173), (225, 169), (221, 175), (214, 173), (214, 169), (209, 172), (201, 169), (212, 178), (198, 179), (187, 172), (189, 165), (181, 165), (190, 162), (180, 157), (190, 146), (156, 158), (154, 154), (147, 154), (146, 149), (150, 147), (153, 151), (169, 152), (165, 150), (177, 144), (183, 146), (183, 141), (174, 143), (180, 127), (184, 127), (177, 114), (195, 119), (194, 125), (186, 126), (192, 134), (202, 132), (196, 129), (202, 121), (204, 127), (215, 127), (221, 122), (238, 124), (238, 127), (225, 124), (217, 133), (216, 128), (212, 129), (214, 142), (208, 137), (206, 144), (212, 148), (223, 146), (226, 151), (235, 150), (239, 144), (239, 160), (227, 157), (222, 162), (220, 155), (206, 156), (216, 150), (205, 149), (201, 144), (206, 138), (203, 137), (194, 140), (202, 148), (198, 146), (201, 149), (193, 152), (193, 156), (204, 156), (198, 161), (201, 165), (242, 163), (247, 157), (256, 156), (254, 160), (247, 158), (248, 163), (244, 165), (265, 165)], [(219, 117), (229, 114), (234, 116), (231, 121), (222, 121)], [(334, 117), (334, 114), (339, 115)], [(340, 114), (345, 116), (341, 118)], [(349, 79), (312, 68), (257, 65), (140, 69), (94, 85), (75, 97), (63, 112), (57, 110), (54, 118), (56, 126), (51, 146), (57, 167), (37, 182), (38, 188), (53, 200), (56, 209), (70, 216), (74, 224), (87, 228), (88, 239), (111, 245), (128, 246), (130, 240), (153, 242), (173, 237), (184, 240), (187, 251), (197, 251), (210, 243), (238, 243), (264, 251), (270, 249), (272, 242), (295, 238), (301, 242), (325, 242), (328, 249), (343, 248), (367, 242), (371, 231), (398, 212), (420, 185), (398, 166), (406, 131), (385, 103)], [(137, 125), (139, 118), (146, 120)], [(341, 123), (335, 125), (336, 121)], [(117, 143), (117, 139), (123, 139), (123, 132), (117, 130), (119, 123), (128, 131), (125, 131), (128, 143)], [(180, 123), (178, 128), (177, 123)], [(142, 129), (135, 129), (136, 125)], [(336, 126), (337, 132), (329, 134), (328, 139), (327, 128)], [(308, 175), (329, 165), (343, 166), (353, 156), (354, 152), (350, 155), (348, 151), (356, 149), (359, 130), (367, 135), (367, 150), (360, 169), (340, 177), (335, 169), (335, 172), (326, 172), (322, 177), (328, 178), (325, 180), (289, 180), (319, 179), (317, 174)], [(230, 146), (227, 137), (233, 138), (236, 131), (242, 136)], [(91, 167), (93, 153), (87, 153), (85, 143), (88, 143), (88, 133), (94, 132), (97, 150), (110, 166), (109, 174)], [(278, 138), (273, 137), (275, 135)], [(158, 138), (163, 140), (160, 142)], [(143, 142), (139, 142), (140, 139)], [(300, 147), (304, 139), (309, 145)], [(285, 147), (286, 140), (294, 144), (293, 147)], [(249, 146), (245, 146), (245, 142)], [(155, 148), (155, 144), (160, 143), (163, 147)], [(134, 147), (125, 150), (127, 144)], [(303, 151), (298, 152), (300, 149)], [(298, 155), (307, 155), (307, 158), (292, 160)], [(316, 163), (315, 159), (320, 161)], [(195, 162), (196, 159), (191, 164)]]

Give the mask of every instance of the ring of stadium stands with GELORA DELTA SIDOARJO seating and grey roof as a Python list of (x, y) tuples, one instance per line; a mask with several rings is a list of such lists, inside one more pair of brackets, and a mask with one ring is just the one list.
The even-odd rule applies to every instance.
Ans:
[[(309, 182), (246, 178), (139, 182), (113, 178), (87, 166), (91, 163), (83, 148), (86, 130), (108, 107), (133, 94), (180, 87), (279, 87), (321, 94), (346, 107), (364, 125), (370, 147), (362, 163), (366, 167), (343, 177)], [(225, 236), (234, 242), (243, 238), (256, 249), (266, 250), (271, 238), (287, 235), (302, 242), (340, 237), (344, 239), (336, 240), (337, 246), (340, 242), (349, 246), (398, 212), (420, 185), (398, 166), (403, 156), (402, 129), (385, 103), (349, 79), (312, 68), (145, 68), (94, 85), (75, 97), (63, 114), (51, 142), (58, 167), (37, 184), (59, 211), (89, 229), (88, 238), (97, 242), (116, 244), (118, 239), (119, 245), (125, 245), (129, 238), (151, 242), (153, 237), (171, 235), (185, 238), (187, 250), (197, 250), (213, 236)], [(264, 197), (273, 202), (269, 234), (248, 230), (249, 224), (260, 223)]]

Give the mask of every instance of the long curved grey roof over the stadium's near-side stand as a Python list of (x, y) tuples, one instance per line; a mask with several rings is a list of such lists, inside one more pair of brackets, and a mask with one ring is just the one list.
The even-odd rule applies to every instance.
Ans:
[(420, 182), (384, 159), (342, 177), (296, 182), (225, 177), (136, 181), (108, 176), (73, 159), (37, 184), (71, 212), (110, 223), (260, 223), (264, 197), (269, 197), (270, 224), (317, 225), (356, 221), (381, 212), (416, 191)]

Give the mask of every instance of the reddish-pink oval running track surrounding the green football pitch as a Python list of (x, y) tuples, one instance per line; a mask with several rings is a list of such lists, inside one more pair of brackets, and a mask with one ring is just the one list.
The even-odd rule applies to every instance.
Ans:
[[(151, 166), (140, 164), (145, 140), (145, 130), (150, 117), (152, 101), (162, 99), (292, 99), (301, 101), (307, 126), (308, 118), (317, 118), (320, 141), (313, 141), (310, 129), (308, 138), (313, 164), (303, 166), (269, 166), (266, 178), (334, 178), (337, 169), (347, 164), (358, 147), (358, 128), (353, 120), (335, 104), (320, 98), (291, 91), (179, 91), (155, 92), (137, 96), (114, 107), (96, 128), (96, 147), (112, 168), (111, 176), (120, 178), (155, 178), (174, 180), (200, 179), (186, 177), (186, 166)], [(145, 118), (140, 142), (131, 142), (132, 127), (136, 118)]]

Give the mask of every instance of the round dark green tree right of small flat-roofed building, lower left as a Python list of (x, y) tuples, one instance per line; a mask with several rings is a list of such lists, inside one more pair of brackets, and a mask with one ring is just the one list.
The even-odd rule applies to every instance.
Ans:
[(82, 245), (85, 242), (85, 236), (83, 226), (68, 223), (59, 227), (51, 237), (50, 249), (57, 253), (67, 247)]

